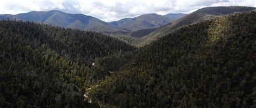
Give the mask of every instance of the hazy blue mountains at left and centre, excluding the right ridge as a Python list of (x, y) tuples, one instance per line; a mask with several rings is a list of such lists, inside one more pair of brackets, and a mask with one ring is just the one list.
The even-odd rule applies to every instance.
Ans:
[(44, 24), (62, 26), (64, 28), (89, 31), (136, 31), (157, 28), (170, 23), (185, 14), (145, 14), (134, 18), (125, 18), (115, 22), (104, 22), (92, 16), (83, 14), (68, 14), (58, 10), (31, 11), (17, 15), (0, 15), (0, 19), (16, 19), (22, 21), (42, 22)]

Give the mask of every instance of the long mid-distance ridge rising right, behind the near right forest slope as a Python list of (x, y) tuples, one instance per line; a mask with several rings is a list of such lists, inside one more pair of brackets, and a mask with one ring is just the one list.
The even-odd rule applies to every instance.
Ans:
[(234, 14), (237, 12), (252, 11), (253, 7), (245, 6), (217, 6), (199, 9), (191, 14), (188, 14), (170, 24), (161, 26), (157, 30), (151, 32), (149, 35), (143, 37), (143, 42), (139, 46), (144, 46), (150, 44), (157, 40), (159, 37), (165, 36), (166, 34), (172, 32), (173, 30), (179, 28), (180, 26), (189, 25), (201, 21), (206, 21), (216, 16)]

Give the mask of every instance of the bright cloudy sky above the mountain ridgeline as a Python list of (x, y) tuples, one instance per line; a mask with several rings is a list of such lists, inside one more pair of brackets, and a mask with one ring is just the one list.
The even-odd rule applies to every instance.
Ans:
[(151, 13), (188, 14), (207, 6), (256, 7), (256, 0), (4, 0), (0, 2), (0, 14), (60, 10), (109, 22)]

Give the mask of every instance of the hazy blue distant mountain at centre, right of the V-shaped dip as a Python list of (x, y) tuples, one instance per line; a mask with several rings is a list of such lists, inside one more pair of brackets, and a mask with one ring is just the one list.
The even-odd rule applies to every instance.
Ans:
[(134, 18), (124, 18), (120, 21), (109, 23), (124, 30), (137, 31), (142, 29), (157, 28), (161, 25), (170, 23), (174, 19), (180, 18), (184, 15), (185, 14), (168, 14), (161, 16), (157, 14), (145, 14)]

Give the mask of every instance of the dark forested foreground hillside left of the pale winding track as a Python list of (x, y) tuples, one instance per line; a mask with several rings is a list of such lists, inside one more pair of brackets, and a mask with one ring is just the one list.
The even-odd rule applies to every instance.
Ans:
[(0, 107), (97, 106), (83, 96), (105, 77), (94, 62), (133, 50), (97, 32), (0, 21)]

